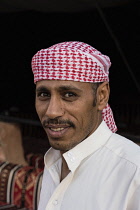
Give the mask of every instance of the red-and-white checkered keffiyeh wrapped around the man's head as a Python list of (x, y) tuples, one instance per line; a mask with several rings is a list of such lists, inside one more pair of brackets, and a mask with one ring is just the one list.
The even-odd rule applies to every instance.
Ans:
[[(111, 62), (108, 56), (78, 41), (62, 42), (38, 51), (32, 58), (34, 82), (40, 80), (72, 80), (78, 82), (109, 81)], [(117, 127), (110, 106), (102, 111), (110, 130)]]

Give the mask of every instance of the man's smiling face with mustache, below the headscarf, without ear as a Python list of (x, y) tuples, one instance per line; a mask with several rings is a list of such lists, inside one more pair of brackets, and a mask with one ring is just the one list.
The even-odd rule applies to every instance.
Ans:
[(90, 83), (42, 80), (36, 84), (36, 111), (50, 145), (68, 151), (101, 122), (98, 102)]

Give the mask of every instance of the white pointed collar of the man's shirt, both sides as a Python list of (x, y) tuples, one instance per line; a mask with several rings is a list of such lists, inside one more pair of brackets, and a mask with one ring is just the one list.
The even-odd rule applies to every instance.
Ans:
[[(99, 127), (88, 138), (63, 154), (69, 170), (74, 172), (81, 161), (102, 147), (111, 135), (112, 132), (107, 127), (106, 123), (102, 121)], [(61, 154), (58, 150), (53, 148), (49, 149), (45, 155), (45, 166), (47, 168), (51, 167), (60, 158)]]

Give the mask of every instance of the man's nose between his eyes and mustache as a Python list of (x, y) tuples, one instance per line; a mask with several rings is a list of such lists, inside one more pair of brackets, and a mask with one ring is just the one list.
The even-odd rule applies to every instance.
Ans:
[(56, 97), (52, 97), (48, 102), (48, 106), (46, 109), (46, 116), (50, 119), (54, 119), (63, 116), (63, 114), (64, 114), (64, 109), (62, 101)]

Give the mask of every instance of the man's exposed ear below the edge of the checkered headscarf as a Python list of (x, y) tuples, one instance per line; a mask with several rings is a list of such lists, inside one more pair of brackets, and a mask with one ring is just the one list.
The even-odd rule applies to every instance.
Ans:
[(109, 100), (110, 88), (108, 82), (103, 82), (97, 89), (98, 110), (102, 111)]

